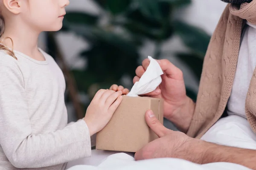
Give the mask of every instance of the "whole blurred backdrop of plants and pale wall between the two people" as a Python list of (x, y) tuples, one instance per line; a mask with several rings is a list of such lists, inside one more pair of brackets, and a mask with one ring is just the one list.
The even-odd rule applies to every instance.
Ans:
[(131, 89), (148, 56), (179, 67), (196, 100), (204, 54), (225, 6), (221, 0), (71, 0), (61, 31), (39, 41), (64, 72), (69, 122), (84, 116), (100, 88)]

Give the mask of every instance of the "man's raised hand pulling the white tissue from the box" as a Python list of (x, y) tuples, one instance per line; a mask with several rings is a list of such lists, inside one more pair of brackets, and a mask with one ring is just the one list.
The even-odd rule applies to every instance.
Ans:
[[(195, 103), (186, 96), (183, 73), (167, 59), (157, 61), (164, 73), (161, 76), (162, 82), (156, 90), (146, 94), (146, 96), (164, 99), (164, 116), (181, 131), (186, 132), (194, 113)], [(145, 59), (142, 66), (136, 69), (134, 83), (140, 80), (149, 63), (149, 59)]]

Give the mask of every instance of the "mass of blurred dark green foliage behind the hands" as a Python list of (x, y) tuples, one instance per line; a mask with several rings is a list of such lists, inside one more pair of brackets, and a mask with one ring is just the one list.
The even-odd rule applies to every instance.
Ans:
[[(81, 36), (89, 48), (81, 51), (87, 62), (83, 70), (72, 70), (78, 90), (92, 99), (99, 88), (125, 85), (122, 77), (135, 75), (140, 64), (140, 48), (146, 40), (155, 44), (153, 58), (161, 57), (163, 43), (178, 35), (190, 50), (176, 55), (197, 77), (201, 76), (204, 54), (210, 36), (199, 28), (174, 19), (174, 11), (190, 0), (93, 0), (99, 14), (68, 11), (61, 31)], [(50, 43), (49, 43), (50, 45)], [(51, 48), (49, 46), (49, 48)], [(52, 49), (54, 50), (54, 49)], [(52, 54), (53, 55), (53, 54)], [(143, 56), (144, 58), (146, 56)], [(130, 88), (130, 87), (128, 87)], [(195, 92), (187, 94), (196, 99)], [(90, 103), (84, 103), (84, 107)]]

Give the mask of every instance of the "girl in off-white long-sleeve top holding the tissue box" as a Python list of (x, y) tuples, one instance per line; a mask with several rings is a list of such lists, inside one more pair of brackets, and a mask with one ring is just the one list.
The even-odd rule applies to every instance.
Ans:
[(99, 90), (84, 119), (67, 125), (64, 76), (37, 40), (42, 31), (62, 27), (68, 4), (0, 0), (0, 169), (63, 170), (65, 162), (90, 156), (90, 136), (128, 92)]

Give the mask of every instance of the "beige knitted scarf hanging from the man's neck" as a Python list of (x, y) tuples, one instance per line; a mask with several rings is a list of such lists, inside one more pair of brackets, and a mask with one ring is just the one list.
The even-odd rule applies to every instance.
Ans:
[[(187, 134), (200, 138), (224, 113), (239, 54), (244, 21), (256, 24), (256, 0), (228, 4), (213, 33), (204, 59), (195, 112)], [(256, 69), (250, 81), (245, 113), (256, 133)]]

